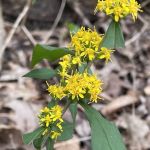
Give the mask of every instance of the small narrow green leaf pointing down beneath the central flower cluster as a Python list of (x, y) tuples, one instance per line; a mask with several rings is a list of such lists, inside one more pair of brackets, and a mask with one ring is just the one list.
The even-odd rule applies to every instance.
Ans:
[(77, 102), (71, 103), (69, 106), (69, 110), (72, 115), (73, 125), (75, 126), (76, 115), (77, 115)]

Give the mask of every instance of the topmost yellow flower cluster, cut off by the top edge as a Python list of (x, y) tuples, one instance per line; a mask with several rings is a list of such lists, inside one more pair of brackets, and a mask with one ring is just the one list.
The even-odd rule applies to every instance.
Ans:
[(114, 17), (118, 22), (121, 18), (132, 15), (133, 20), (141, 12), (141, 6), (136, 0), (98, 0), (95, 12), (101, 11)]

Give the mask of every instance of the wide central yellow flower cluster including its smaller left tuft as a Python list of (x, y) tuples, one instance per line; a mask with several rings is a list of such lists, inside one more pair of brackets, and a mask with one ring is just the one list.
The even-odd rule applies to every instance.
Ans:
[(102, 81), (98, 80), (95, 75), (75, 73), (74, 75), (68, 75), (64, 82), (64, 86), (57, 86), (57, 89), (62, 89), (60, 93), (57, 92), (58, 90), (52, 90), (56, 88), (56, 85), (48, 85), (48, 89), (51, 89), (49, 91), (50, 94), (55, 95), (57, 99), (60, 99), (62, 95), (72, 100), (86, 98), (86, 95), (90, 96), (91, 102), (97, 102), (100, 99), (99, 95), (102, 92)]

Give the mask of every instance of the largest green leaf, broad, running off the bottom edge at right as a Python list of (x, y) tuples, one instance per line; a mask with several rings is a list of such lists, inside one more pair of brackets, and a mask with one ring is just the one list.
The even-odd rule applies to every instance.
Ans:
[(93, 150), (126, 150), (117, 127), (91, 106), (81, 103), (91, 126)]

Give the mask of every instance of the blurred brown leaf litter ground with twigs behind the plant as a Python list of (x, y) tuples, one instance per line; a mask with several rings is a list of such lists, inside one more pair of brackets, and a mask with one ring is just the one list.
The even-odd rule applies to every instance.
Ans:
[[(37, 0), (31, 6), (30, 0), (0, 1), (0, 150), (33, 150), (23, 145), (22, 133), (38, 126), (39, 109), (50, 101), (45, 81), (22, 77), (31, 70), (34, 45), (67, 46), (68, 22), (95, 26), (103, 34), (110, 19), (94, 15), (96, 2)], [(139, 2), (143, 13), (137, 21), (121, 21), (126, 48), (117, 49), (107, 65), (97, 61), (92, 66), (104, 82), (103, 100), (93, 106), (116, 123), (128, 150), (150, 150), (150, 0)], [(49, 65), (58, 64), (44, 61), (36, 67)], [(56, 150), (91, 150), (89, 124), (78, 109), (74, 138), (56, 144)]]

